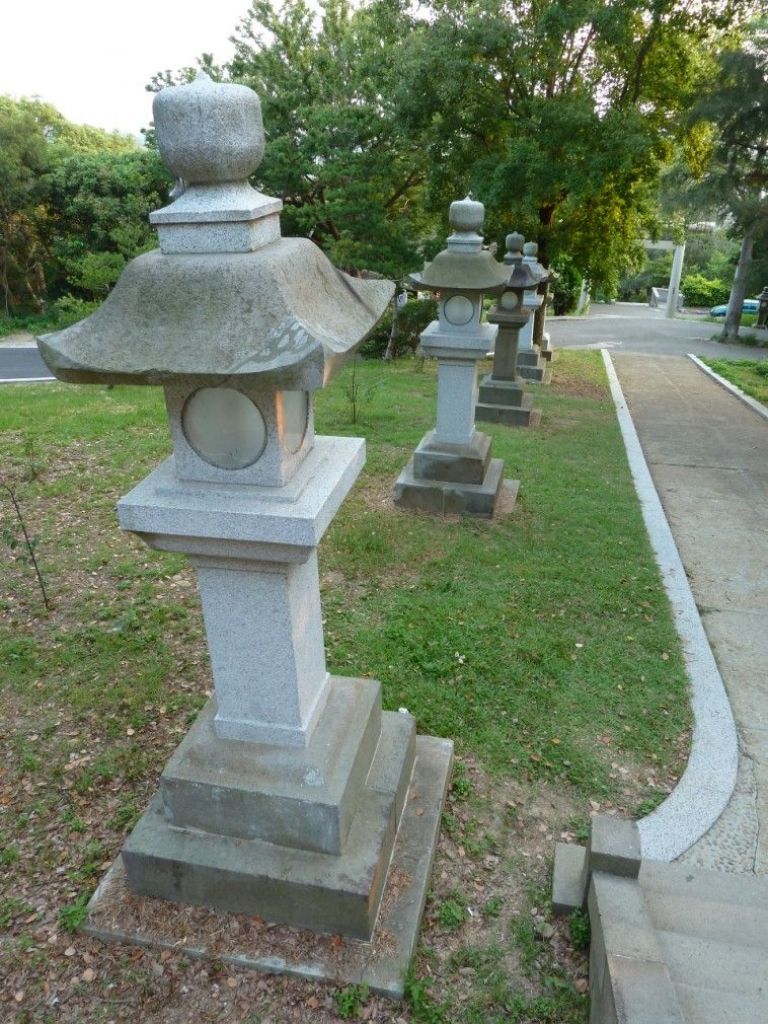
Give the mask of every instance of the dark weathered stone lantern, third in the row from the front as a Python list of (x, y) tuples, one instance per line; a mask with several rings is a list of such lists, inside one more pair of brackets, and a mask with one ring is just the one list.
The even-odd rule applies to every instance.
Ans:
[(511, 273), (506, 288), (487, 315), (488, 323), (499, 328), (494, 369), (480, 384), (480, 400), (475, 407), (476, 419), (515, 427), (537, 426), (542, 418), (539, 410), (532, 408), (532, 395), (523, 392), (517, 379), (518, 335), (531, 314), (529, 305), (523, 300), (540, 280), (530, 266), (518, 258), (523, 241), (521, 234), (513, 232), (507, 236), (504, 262)]

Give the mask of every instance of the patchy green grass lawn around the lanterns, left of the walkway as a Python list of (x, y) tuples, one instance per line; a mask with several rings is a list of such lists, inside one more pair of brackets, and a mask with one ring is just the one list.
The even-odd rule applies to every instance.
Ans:
[[(421, 732), (457, 744), (403, 1013), (583, 1021), (584, 996), (568, 981), (578, 954), (531, 932), (530, 907), (546, 912), (560, 835), (581, 835), (598, 807), (649, 809), (681, 772), (690, 714), (680, 645), (599, 353), (557, 353), (554, 383), (536, 391), (540, 429), (487, 428), (506, 475), (521, 481), (514, 510), (495, 521), (392, 504), (397, 473), (433, 425), (435, 380), (418, 360), (364, 362), (316, 399), (318, 433), (368, 441), (366, 468), (321, 547), (329, 669), (380, 679), (387, 708), (407, 707)], [(24, 979), (30, 949), (45, 958), (45, 929), (77, 923), (211, 682), (185, 559), (121, 534), (115, 515), (120, 495), (170, 450), (161, 393), (6, 387), (0, 449), (54, 604), (45, 611), (23, 549), (7, 546), (18, 528), (6, 502), (0, 858), (13, 868), (0, 889), (10, 936), (0, 956)], [(472, 900), (487, 912), (462, 915)], [(142, 956), (151, 994), (136, 1006), (151, 1021), (153, 986), (164, 983)], [(65, 988), (72, 967), (54, 965)], [(126, 970), (104, 968), (105, 1006), (135, 996)], [(449, 1014), (470, 974), (476, 991)], [(78, 1019), (100, 1020), (94, 1007)]]

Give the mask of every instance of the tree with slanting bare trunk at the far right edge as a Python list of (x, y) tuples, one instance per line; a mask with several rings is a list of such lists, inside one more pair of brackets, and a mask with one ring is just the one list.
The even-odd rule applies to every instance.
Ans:
[(733, 341), (755, 246), (768, 243), (768, 23), (755, 22), (740, 46), (720, 54), (693, 120), (711, 139), (709, 165), (691, 184), (693, 199), (727, 216), (741, 238), (721, 335)]

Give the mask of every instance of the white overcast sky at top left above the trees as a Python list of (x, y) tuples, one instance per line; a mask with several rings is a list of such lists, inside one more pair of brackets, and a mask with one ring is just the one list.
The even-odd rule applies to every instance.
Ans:
[(0, 93), (38, 95), (68, 120), (138, 134), (152, 120), (144, 86), (205, 52), (223, 61), (250, 0), (7, 0)]

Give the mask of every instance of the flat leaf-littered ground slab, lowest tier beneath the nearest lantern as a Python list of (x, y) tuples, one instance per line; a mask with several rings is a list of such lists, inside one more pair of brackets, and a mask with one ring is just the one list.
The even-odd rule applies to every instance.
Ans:
[(194, 959), (336, 984), (365, 983), (399, 998), (419, 936), (452, 760), (449, 740), (416, 737), (411, 787), (370, 941), (268, 925), (260, 916), (246, 916), (242, 907), (224, 914), (136, 896), (127, 885), (122, 856), (94, 893), (83, 931), (103, 941), (169, 949)]

